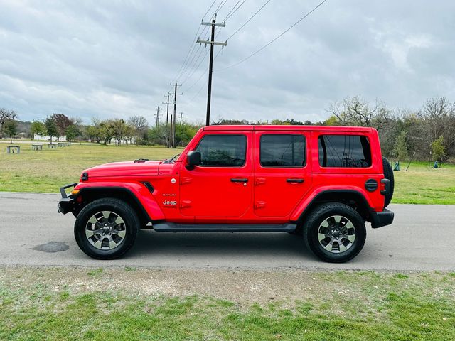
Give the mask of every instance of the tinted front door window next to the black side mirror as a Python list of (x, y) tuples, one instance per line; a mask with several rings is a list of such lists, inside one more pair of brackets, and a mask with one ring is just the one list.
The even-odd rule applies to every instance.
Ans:
[(200, 166), (242, 166), (247, 138), (244, 135), (206, 135), (199, 142)]

